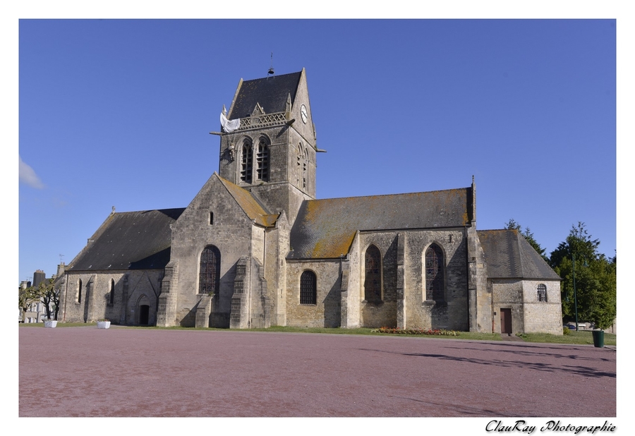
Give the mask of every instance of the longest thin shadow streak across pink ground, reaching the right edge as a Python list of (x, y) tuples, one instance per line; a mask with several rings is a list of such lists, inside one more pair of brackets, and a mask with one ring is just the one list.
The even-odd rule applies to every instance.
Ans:
[[(398, 351), (387, 351), (387, 350), (377, 350), (377, 349), (360, 349), (361, 351), (374, 351), (377, 353), (390, 353), (390, 354), (401, 354), (401, 356), (413, 356), (413, 357), (424, 357), (424, 358), (434, 358), (434, 359), (442, 359), (446, 361), (455, 361), (455, 362), (464, 362), (469, 364), (476, 365), (488, 365), (488, 366), (496, 366), (499, 368), (525, 368), (537, 371), (545, 371), (548, 373), (567, 373), (574, 375), (582, 375), (584, 377), (611, 377), (615, 378), (615, 373), (610, 373), (606, 371), (598, 371), (593, 368), (588, 368), (585, 366), (579, 365), (562, 365), (560, 367), (554, 366), (552, 363), (536, 363), (536, 362), (526, 362), (526, 361), (503, 361), (503, 360), (486, 360), (480, 358), (465, 358), (459, 356), (449, 356), (447, 354), (432, 354), (432, 353), (400, 353)], [(461, 348), (464, 350), (464, 348)], [(478, 351), (483, 351), (482, 349), (478, 349)], [(516, 355), (518, 353), (514, 353)], [(536, 356), (536, 353), (528, 353), (528, 355)]]

